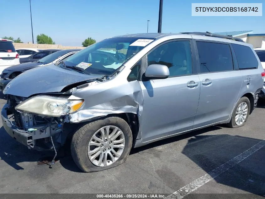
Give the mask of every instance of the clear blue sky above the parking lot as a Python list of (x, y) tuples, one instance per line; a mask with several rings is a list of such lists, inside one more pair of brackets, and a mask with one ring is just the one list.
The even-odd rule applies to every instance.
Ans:
[[(262, 17), (195, 17), (191, 3), (263, 3), (264, 0), (164, 0), (162, 32), (253, 30), (265, 33)], [(1, 0), (0, 37), (32, 41), (29, 0)], [(97, 41), (127, 33), (157, 32), (159, 0), (32, 0), (34, 42), (38, 34), (56, 44), (81, 46), (87, 37)], [(264, 13), (264, 12), (263, 12)]]

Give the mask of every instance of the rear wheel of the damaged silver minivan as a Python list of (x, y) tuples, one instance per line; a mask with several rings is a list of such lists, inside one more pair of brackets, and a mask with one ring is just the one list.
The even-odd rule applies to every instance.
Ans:
[[(247, 106), (247, 110), (246, 107)], [(250, 112), (250, 101), (247, 97), (241, 97), (236, 103), (230, 122), (227, 124), (230, 128), (244, 126)]]

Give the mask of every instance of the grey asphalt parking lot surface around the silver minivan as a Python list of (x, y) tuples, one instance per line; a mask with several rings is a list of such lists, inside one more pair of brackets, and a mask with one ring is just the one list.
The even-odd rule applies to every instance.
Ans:
[[(0, 108), (6, 102), (1, 98)], [(265, 102), (258, 102), (241, 128), (218, 125), (157, 141), (132, 149), (124, 164), (95, 173), (82, 173), (77, 168), (69, 145), (52, 165), (48, 161), (54, 152), (28, 150), (6, 133), (1, 121), (0, 190), (1, 193), (172, 194), (205, 174), (213, 174), (214, 169), (226, 163), (230, 166), (212, 176), (214, 179), (205, 183), (199, 180), (200, 186), (192, 193), (264, 196), (264, 111)], [(260, 148), (255, 151), (252, 147), (257, 144)], [(228, 162), (242, 154), (248, 156), (234, 165)]]

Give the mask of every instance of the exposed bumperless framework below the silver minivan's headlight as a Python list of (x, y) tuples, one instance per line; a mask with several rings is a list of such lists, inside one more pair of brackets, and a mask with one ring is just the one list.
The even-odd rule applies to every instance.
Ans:
[(60, 117), (42, 116), (16, 110), (25, 97), (7, 96), (7, 103), (2, 109), (3, 127), (8, 134), (20, 143), (39, 151), (54, 150), (66, 140), (64, 123), (69, 122), (68, 115)]

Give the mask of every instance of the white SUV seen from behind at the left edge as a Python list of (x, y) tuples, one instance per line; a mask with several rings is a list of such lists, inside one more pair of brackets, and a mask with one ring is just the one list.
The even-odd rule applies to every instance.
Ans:
[(0, 39), (0, 73), (9, 67), (19, 64), (19, 54), (16, 52), (12, 40)]

